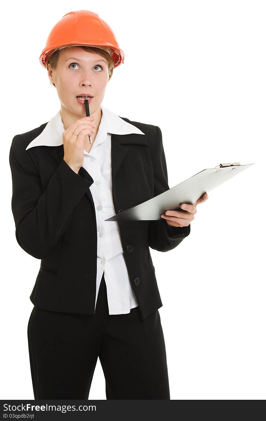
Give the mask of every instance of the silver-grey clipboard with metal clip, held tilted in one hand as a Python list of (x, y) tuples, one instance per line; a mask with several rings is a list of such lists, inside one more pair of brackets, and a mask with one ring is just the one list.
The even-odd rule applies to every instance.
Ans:
[(105, 221), (157, 221), (166, 210), (182, 210), (180, 205), (192, 205), (204, 194), (231, 179), (253, 164), (227, 163), (207, 168), (166, 192), (161, 193), (140, 205), (117, 213)]

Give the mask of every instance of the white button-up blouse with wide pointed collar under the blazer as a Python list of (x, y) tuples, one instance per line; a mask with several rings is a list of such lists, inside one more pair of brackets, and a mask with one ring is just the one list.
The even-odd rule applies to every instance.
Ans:
[[(118, 115), (101, 106), (102, 118), (95, 141), (90, 152), (84, 149), (84, 169), (94, 182), (90, 191), (95, 205), (97, 223), (97, 277), (96, 299), (103, 273), (106, 283), (109, 314), (127, 314), (138, 306), (137, 298), (130, 284), (124, 259), (119, 224), (105, 221), (116, 214), (112, 195), (111, 133), (145, 134), (134, 125), (127, 123)], [(63, 144), (65, 131), (60, 110), (47, 123), (42, 133), (28, 145), (59, 146)], [(90, 253), (90, 250), (88, 250)]]

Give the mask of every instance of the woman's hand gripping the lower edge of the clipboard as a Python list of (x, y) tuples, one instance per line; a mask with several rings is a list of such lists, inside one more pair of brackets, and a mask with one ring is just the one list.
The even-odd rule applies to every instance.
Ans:
[(180, 208), (184, 209), (185, 212), (180, 210), (166, 210), (166, 213), (161, 215), (162, 218), (166, 219), (166, 223), (171, 226), (188, 226), (194, 219), (194, 215), (197, 212), (197, 205), (203, 203), (208, 199), (207, 193), (204, 193), (194, 205), (187, 205), (182, 203)]

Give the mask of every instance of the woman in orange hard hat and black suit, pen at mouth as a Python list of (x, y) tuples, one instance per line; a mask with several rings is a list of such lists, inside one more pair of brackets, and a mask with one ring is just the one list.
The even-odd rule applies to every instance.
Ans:
[(28, 324), (34, 399), (88, 399), (98, 357), (107, 399), (170, 399), (149, 247), (179, 245), (206, 195), (164, 220), (105, 221), (169, 189), (161, 130), (101, 105), (124, 53), (96, 13), (63, 16), (40, 61), (61, 110), (10, 149), (16, 239), (41, 259)]

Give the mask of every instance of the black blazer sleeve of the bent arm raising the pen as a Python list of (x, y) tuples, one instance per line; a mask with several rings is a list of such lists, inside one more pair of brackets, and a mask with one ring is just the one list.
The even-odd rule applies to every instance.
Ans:
[(43, 191), (20, 135), (12, 140), (9, 164), (17, 242), (31, 256), (42, 259), (50, 254), (65, 232), (68, 217), (90, 187), (90, 181), (76, 174), (62, 159)]

